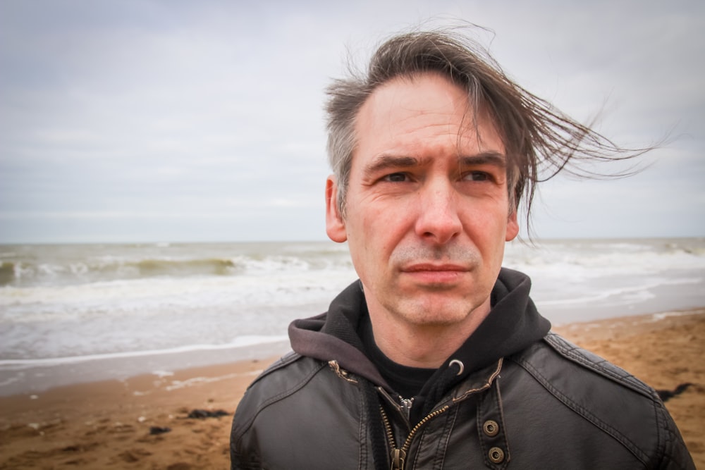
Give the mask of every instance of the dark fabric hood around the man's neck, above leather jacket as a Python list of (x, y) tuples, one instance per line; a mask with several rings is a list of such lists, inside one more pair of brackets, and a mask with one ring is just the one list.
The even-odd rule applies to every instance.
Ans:
[[(544, 338), (551, 323), (539, 314), (529, 297), (529, 290), (531, 280), (528, 276), (502, 268), (491, 293), (490, 314), (446, 359), (438, 373), (448, 369), (450, 361), (457, 359), (465, 366), (462, 376), (458, 377), (460, 379)], [(302, 356), (338, 361), (343, 369), (391, 392), (393, 390), (367, 357), (357, 333), (360, 321), (368, 315), (358, 280), (333, 299), (326, 314), (293, 321), (289, 326), (291, 347)], [(429, 380), (431, 382), (433, 377)]]

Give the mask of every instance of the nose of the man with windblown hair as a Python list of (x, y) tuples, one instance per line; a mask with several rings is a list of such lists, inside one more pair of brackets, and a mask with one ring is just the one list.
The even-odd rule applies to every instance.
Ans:
[(419, 237), (443, 245), (460, 234), (457, 196), (447, 180), (431, 182), (419, 192), (416, 220)]

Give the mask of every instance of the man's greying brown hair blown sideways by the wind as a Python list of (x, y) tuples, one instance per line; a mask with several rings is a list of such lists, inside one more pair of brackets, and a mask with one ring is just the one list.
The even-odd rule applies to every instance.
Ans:
[(523, 197), (527, 224), (539, 181), (560, 171), (596, 176), (589, 166), (581, 168), (574, 163), (630, 159), (648, 150), (620, 148), (589, 125), (566, 116), (510, 80), (489, 52), (455, 30), (414, 31), (391, 37), (376, 50), (364, 73), (356, 73), (352, 66), (348, 71), (349, 78), (334, 80), (326, 90), (328, 154), (343, 217), (357, 147), (357, 115), (372, 92), (394, 78), (439, 73), (467, 92), (468, 111), (476, 128), (475, 116), (487, 113), (505, 147), (510, 211), (517, 210)]

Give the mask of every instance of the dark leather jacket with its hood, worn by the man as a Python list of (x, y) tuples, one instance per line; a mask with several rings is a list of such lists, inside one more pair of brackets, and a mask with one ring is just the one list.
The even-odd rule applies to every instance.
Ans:
[[(354, 329), (355, 311), (366, 310), (349, 287), (327, 316), (293, 323), (295, 352), (248, 388), (233, 419), (232, 468), (694, 469), (656, 392), (546, 335), (528, 286), (503, 270), (488, 317), (503, 320), (493, 328), (501, 334), (475, 338), (495, 342), (501, 354), (475, 354), (484, 359), (417, 423), (341, 327), (347, 320)], [(518, 314), (502, 313), (518, 306)], [(508, 322), (511, 315), (518, 316)], [(469, 358), (470, 340), (453, 357)], [(515, 350), (504, 351), (505, 343)]]

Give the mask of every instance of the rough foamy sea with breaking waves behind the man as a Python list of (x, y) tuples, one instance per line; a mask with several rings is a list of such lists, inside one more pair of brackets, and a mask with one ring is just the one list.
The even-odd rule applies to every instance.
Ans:
[[(281, 354), (356, 279), (333, 242), (0, 245), (0, 395)], [(705, 306), (705, 238), (507, 245), (554, 325)]]

